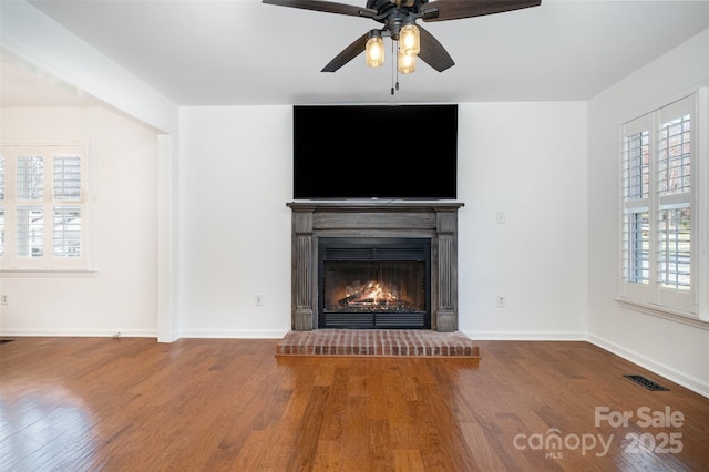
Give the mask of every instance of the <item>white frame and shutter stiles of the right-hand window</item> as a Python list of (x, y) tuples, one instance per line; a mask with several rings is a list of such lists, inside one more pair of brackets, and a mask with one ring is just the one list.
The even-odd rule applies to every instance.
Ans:
[[(681, 194), (667, 195), (659, 192), (658, 155), (659, 130), (667, 123), (682, 114), (690, 115), (691, 156), (690, 156), (690, 191)], [(709, 327), (709, 165), (708, 144), (709, 101), (707, 88), (689, 94), (657, 109), (650, 113), (630, 120), (620, 125), (620, 195), (619, 195), (619, 237), (620, 237), (620, 270), (619, 296), (623, 306), (650, 315), (661, 316), (690, 325)], [(627, 145), (628, 138), (640, 132), (649, 132), (649, 191), (638, 195), (628, 191)], [(630, 184), (633, 185), (633, 184)], [(664, 287), (660, 283), (660, 237), (661, 211), (669, 208), (689, 208), (691, 224), (690, 240), (690, 286), (688, 289)], [(633, 260), (633, 238), (628, 233), (633, 230), (630, 216), (647, 212), (648, 214), (648, 260), (647, 280), (633, 280), (630, 270), (637, 265)], [(626, 218), (627, 217), (627, 218)], [(645, 250), (641, 252), (645, 255)]]

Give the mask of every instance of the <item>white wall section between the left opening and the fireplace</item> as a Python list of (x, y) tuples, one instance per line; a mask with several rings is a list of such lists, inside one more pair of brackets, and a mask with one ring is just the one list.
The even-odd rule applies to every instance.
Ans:
[(182, 110), (183, 337), (282, 337), (290, 329), (291, 113)]

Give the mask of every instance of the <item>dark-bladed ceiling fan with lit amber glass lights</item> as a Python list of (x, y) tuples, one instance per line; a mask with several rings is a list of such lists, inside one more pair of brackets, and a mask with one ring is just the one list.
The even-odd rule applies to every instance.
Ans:
[(367, 52), (367, 64), (377, 68), (383, 64), (382, 37), (399, 42), (398, 71), (415, 70), (415, 58), (439, 72), (455, 64), (445, 48), (427, 30), (417, 25), (424, 22), (458, 20), (503, 13), (523, 8), (537, 7), (542, 0), (367, 0), (367, 7), (357, 7), (320, 0), (263, 0), (264, 3), (300, 8), (326, 13), (369, 18), (383, 28), (371, 30), (354, 40), (336, 55), (320, 72), (335, 72), (361, 52)]

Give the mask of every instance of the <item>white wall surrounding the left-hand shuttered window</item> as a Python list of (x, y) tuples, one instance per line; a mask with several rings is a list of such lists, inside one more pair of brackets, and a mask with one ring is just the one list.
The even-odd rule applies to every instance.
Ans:
[(101, 109), (2, 109), (3, 143), (89, 142), (93, 276), (0, 277), (3, 336), (156, 336), (157, 135)]

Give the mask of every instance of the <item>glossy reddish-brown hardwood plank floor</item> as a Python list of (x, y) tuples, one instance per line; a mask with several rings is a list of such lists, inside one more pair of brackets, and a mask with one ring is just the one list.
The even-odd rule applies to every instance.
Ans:
[(586, 342), (476, 341), (476, 367), (276, 342), (0, 345), (0, 469), (708, 470), (709, 399)]

